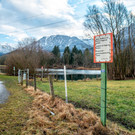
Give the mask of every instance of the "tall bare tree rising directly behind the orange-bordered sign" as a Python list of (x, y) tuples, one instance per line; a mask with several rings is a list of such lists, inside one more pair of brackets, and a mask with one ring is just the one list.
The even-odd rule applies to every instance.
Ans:
[(103, 8), (95, 5), (88, 8), (84, 26), (90, 30), (93, 35), (104, 33), (113, 33), (114, 45), (114, 62), (109, 64), (113, 79), (124, 79), (126, 75), (126, 57), (125, 49), (127, 45), (123, 45), (124, 34), (122, 31), (128, 27), (128, 11), (123, 3), (119, 0), (102, 0)]

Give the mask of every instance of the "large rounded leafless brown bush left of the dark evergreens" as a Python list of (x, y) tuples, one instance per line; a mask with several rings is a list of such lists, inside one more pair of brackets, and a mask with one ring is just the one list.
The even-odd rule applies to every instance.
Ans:
[(36, 68), (47, 65), (51, 59), (50, 53), (44, 51), (34, 39), (24, 39), (19, 42), (19, 48), (10, 53), (6, 59), (8, 73), (12, 74), (13, 67), (16, 69), (29, 69), (30, 74), (36, 73)]

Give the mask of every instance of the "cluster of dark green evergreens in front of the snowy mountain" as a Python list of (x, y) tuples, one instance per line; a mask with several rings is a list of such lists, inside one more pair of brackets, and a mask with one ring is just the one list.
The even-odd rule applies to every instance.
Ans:
[(67, 46), (64, 49), (62, 55), (60, 54), (59, 46), (54, 46), (52, 50), (54, 56), (53, 65), (67, 65), (69, 67), (92, 67), (93, 66), (93, 56), (91, 50), (86, 48), (84, 52), (77, 49), (76, 46), (70, 50)]

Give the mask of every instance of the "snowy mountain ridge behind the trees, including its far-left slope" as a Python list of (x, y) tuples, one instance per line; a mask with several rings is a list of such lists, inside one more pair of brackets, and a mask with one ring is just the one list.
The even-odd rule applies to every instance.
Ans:
[[(78, 37), (70, 37), (67, 35), (51, 35), (44, 36), (37, 41), (41, 47), (51, 52), (54, 46), (59, 46), (60, 52), (63, 53), (65, 47), (69, 46), (70, 50), (76, 45), (77, 49), (84, 51), (86, 48), (93, 48), (93, 40), (91, 39), (79, 39)], [(0, 43), (0, 56), (10, 53), (11, 51), (17, 48), (12, 47), (10, 44), (1, 44)]]

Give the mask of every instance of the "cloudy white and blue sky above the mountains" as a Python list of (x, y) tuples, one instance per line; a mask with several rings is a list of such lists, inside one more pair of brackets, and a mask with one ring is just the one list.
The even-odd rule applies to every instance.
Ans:
[[(135, 0), (121, 0), (135, 12)], [(0, 0), (0, 44), (15, 44), (25, 37), (50, 35), (85, 37), (88, 5), (101, 0)]]

